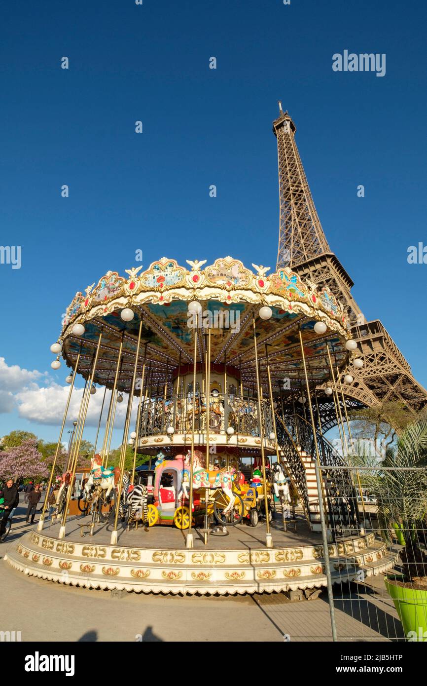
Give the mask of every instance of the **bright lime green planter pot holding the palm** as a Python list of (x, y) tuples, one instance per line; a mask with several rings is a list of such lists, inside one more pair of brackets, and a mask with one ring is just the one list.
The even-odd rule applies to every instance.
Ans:
[[(387, 593), (391, 596), (402, 622), (406, 638), (427, 641), (427, 591), (415, 591), (396, 586), (385, 578)], [(410, 632), (413, 632), (410, 634)]]

